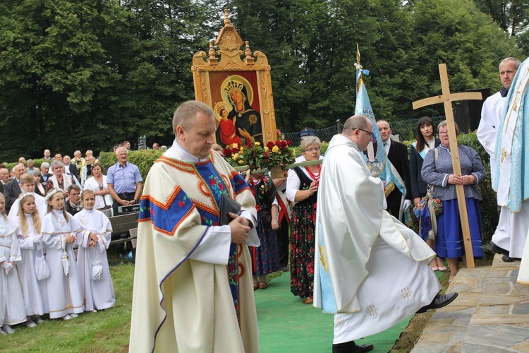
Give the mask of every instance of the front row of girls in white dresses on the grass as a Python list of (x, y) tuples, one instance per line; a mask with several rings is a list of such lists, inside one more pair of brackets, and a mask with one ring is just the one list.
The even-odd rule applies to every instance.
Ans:
[(73, 216), (66, 212), (63, 189), (50, 189), (43, 198), (34, 192), (31, 174), (22, 174), (20, 183), (9, 216), (0, 194), (0, 334), (14, 333), (11, 325), (34, 328), (44, 314), (70, 320), (114, 306), (107, 261), (112, 228), (94, 210), (94, 191), (83, 191), (83, 210)]

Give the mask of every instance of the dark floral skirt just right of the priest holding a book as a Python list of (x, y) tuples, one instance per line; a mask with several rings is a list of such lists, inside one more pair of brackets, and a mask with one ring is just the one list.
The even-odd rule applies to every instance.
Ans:
[(261, 212), (257, 212), (257, 234), (261, 245), (257, 248), (250, 246), (252, 256), (252, 274), (261, 276), (279, 271), (279, 246), (276, 231), (272, 225), (263, 225)]

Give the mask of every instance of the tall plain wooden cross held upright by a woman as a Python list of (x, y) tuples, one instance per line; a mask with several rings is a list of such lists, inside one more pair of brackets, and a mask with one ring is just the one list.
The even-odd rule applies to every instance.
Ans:
[[(413, 109), (426, 107), (427, 105), (432, 104), (444, 103), (444, 114), (446, 114), (446, 125), (448, 126), (450, 152), (452, 155), (452, 167), (454, 169), (454, 174), (461, 176), (461, 162), (459, 160), (459, 150), (457, 148), (456, 126), (454, 125), (452, 102), (455, 100), (481, 100), (482, 97), (480, 92), (450, 93), (446, 64), (439, 64), (439, 75), (441, 76), (442, 95), (425, 98), (424, 100), (417, 100), (413, 102)], [(463, 189), (463, 185), (456, 185), (456, 194), (459, 207), (459, 217), (461, 219), (461, 229), (463, 229), (467, 267), (475, 268), (474, 252), (472, 250), (472, 241), (470, 240), (470, 227), (468, 226), (468, 213), (466, 210), (465, 190)]]

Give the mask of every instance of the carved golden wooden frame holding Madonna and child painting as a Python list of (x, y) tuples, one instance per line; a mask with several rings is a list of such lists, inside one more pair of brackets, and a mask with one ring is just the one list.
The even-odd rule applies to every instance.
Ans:
[(217, 41), (209, 42), (208, 54), (195, 53), (191, 71), (195, 99), (214, 111), (219, 145), (277, 139), (267, 58), (262, 52), (251, 52), (249, 43), (243, 42), (231, 25), (227, 11)]

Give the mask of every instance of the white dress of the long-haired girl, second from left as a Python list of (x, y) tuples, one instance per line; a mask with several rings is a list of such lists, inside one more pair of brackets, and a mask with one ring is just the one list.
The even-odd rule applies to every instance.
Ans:
[[(42, 241), (39, 244), (33, 242), (37, 235), (33, 227), (33, 215), (25, 213), (24, 216), (28, 222), (28, 233), (24, 235), (20, 228), (17, 230), (18, 244), (22, 253), (22, 262), (17, 264), (18, 278), (24, 295), (26, 315), (42, 315), (49, 312), (47, 280), (37, 280), (35, 258), (37, 255), (44, 256), (44, 243)], [(18, 217), (15, 221), (20, 225)]]

